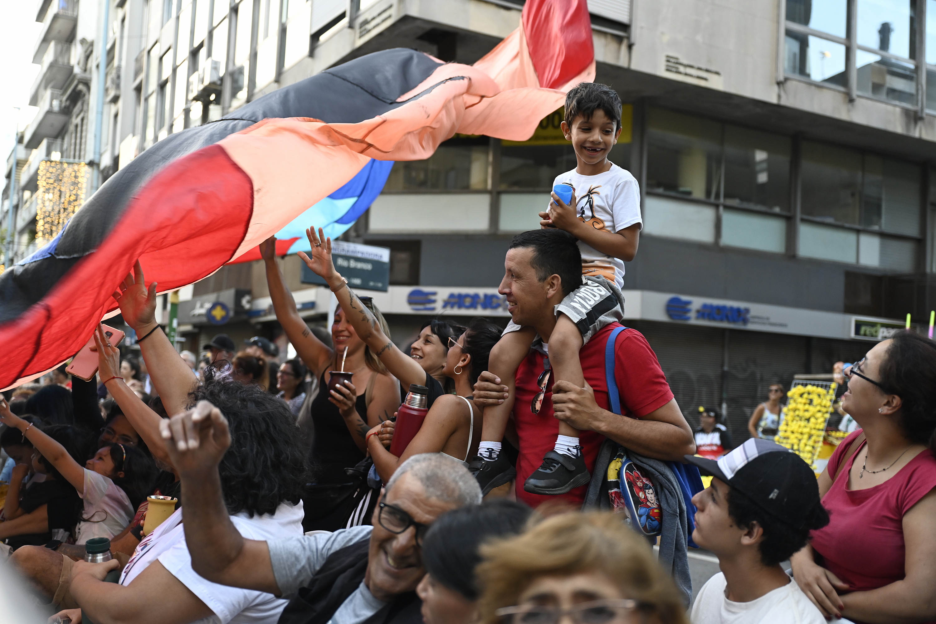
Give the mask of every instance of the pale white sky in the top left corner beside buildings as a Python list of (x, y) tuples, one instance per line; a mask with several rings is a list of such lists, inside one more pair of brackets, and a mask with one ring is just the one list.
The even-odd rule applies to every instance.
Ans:
[[(22, 130), (36, 116), (36, 107), (28, 106), (29, 90), (39, 72), (39, 65), (33, 65), (42, 28), (36, 11), (35, 0), (0, 0), (0, 163), (5, 165), (17, 125)], [(0, 188), (5, 184), (0, 179)]]

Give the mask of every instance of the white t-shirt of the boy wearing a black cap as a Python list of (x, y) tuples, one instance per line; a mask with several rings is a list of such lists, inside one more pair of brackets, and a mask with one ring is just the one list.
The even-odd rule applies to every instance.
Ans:
[(693, 624), (826, 624), (819, 609), (790, 579), (751, 602), (725, 598), (724, 573), (717, 573), (699, 589), (690, 619)]

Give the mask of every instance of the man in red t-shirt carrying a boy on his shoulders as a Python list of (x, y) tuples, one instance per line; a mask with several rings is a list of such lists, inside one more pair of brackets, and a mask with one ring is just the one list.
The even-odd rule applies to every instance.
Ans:
[[(531, 410), (531, 401), (540, 388), (537, 378), (544, 369), (548, 340), (556, 325), (555, 306), (576, 284), (563, 283), (562, 275), (576, 275), (574, 268), (554, 266), (569, 260), (571, 255), (548, 254), (556, 244), (571, 245), (578, 251), (576, 239), (562, 230), (541, 230), (539, 237), (527, 237), (532, 246), (512, 247), (505, 258), (505, 276), (498, 292), (505, 296), (508, 311), (520, 326), (534, 327), (542, 339), (517, 370), (514, 423), (519, 438), (517, 461), (517, 498), (532, 506), (557, 498), (580, 505), (587, 486), (579, 486), (560, 496), (541, 496), (523, 490), (522, 484), (540, 464), (553, 446), (562, 420), (581, 431), (579, 438), (585, 465), (594, 468), (595, 456), (603, 437), (621, 443), (640, 455), (668, 461), (682, 461), (684, 455), (695, 453), (692, 428), (680, 412), (673, 393), (666, 383), (660, 363), (643, 335), (636, 329), (624, 329), (615, 341), (615, 381), (621, 396), (623, 415), (610, 412), (605, 376), (605, 347), (611, 331), (621, 327), (614, 323), (604, 327), (579, 351), (582, 372), (590, 388), (580, 388), (559, 381), (548, 385), (546, 398), (538, 414)], [(539, 279), (544, 277), (544, 279)], [(482, 406), (503, 402), (507, 387), (501, 385), (489, 371), (481, 373), (475, 384), (475, 403)], [(558, 420), (557, 420), (558, 419)], [(593, 475), (601, 478), (602, 475)]]

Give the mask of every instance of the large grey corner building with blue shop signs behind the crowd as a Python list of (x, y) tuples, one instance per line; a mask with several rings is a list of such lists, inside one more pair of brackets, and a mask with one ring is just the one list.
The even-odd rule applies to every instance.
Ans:
[[(113, 63), (125, 80), (109, 103), (102, 170), (372, 51), (407, 47), (474, 63), (517, 27), (522, 4), (112, 3), (110, 15), (122, 20), (110, 27), (121, 41)], [(611, 158), (641, 188), (627, 322), (650, 340), (685, 414), (724, 407), (743, 439), (769, 384), (788, 387), (794, 374), (854, 361), (907, 313), (914, 324), (929, 320), (936, 0), (590, 0), (589, 8), (596, 80), (625, 103)], [(399, 344), (432, 314), (505, 320), (496, 288), (506, 247), (538, 226), (553, 178), (575, 167), (561, 118), (545, 119), (529, 141), (451, 138), (428, 160), (397, 163), (344, 235), (389, 249), (389, 290), (374, 299)], [(302, 282), (296, 256), (282, 262), (300, 313), (324, 325), (328, 292)], [(222, 268), (180, 295), (184, 346), (197, 350), (226, 331), (286, 348), (262, 264)], [(230, 310), (223, 326), (205, 314), (214, 301)], [(168, 302), (161, 311), (167, 319)]]

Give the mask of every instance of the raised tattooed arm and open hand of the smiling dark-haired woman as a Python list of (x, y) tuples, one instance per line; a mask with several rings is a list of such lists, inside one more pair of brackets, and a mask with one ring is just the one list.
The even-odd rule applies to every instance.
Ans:
[[(300, 252), (300, 258), (316, 275), (329, 284), (329, 288), (331, 288), (335, 297), (338, 297), (338, 304), (342, 307), (342, 310), (348, 312), (345, 318), (354, 327), (360, 340), (371, 347), (373, 353), (380, 358), (387, 370), (400, 380), (403, 387), (409, 387), (410, 384), (425, 385), (426, 371), (419, 366), (417, 360), (405, 355), (390, 341), (380, 324), (377, 323), (373, 312), (364, 305), (354, 291), (351, 290), (351, 287), (344, 283), (342, 276), (335, 270), (335, 266), (331, 261), (331, 239), (322, 237), (321, 228), (319, 228), (317, 235), (312, 228), (306, 231), (306, 235), (309, 237), (309, 242), (312, 243), (312, 252), (310, 254)], [(277, 316), (279, 316), (279, 312), (277, 312)], [(298, 349), (299, 347), (297, 347)], [(392, 412), (393, 409), (391, 408), (390, 413), (392, 414)]]

